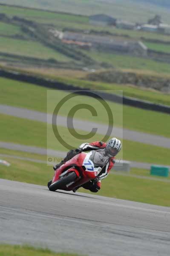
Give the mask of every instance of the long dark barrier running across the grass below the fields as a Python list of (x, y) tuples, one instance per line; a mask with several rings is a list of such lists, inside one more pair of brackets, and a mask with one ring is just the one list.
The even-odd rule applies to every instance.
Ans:
[[(13, 79), (13, 80), (31, 83), (31, 84), (37, 84), (47, 88), (54, 88), (58, 90), (84, 90), (84, 91), (90, 90), (89, 88), (80, 88), (78, 86), (73, 86), (71, 84), (64, 84), (52, 79), (46, 79), (38, 76), (32, 76), (26, 73), (7, 71), (3, 69), (0, 69), (0, 76)], [(93, 90), (93, 92), (95, 91)], [(142, 108), (142, 109), (158, 111), (163, 113), (170, 113), (170, 107), (166, 105), (155, 104), (155, 103), (142, 101), (139, 99), (134, 99), (134, 98), (125, 97), (125, 96), (122, 97), (116, 94), (109, 94), (101, 91), (99, 91), (97, 94), (101, 96), (103, 99), (107, 99), (111, 102), (117, 102), (117, 103), (123, 102), (124, 105), (129, 105), (136, 108)]]

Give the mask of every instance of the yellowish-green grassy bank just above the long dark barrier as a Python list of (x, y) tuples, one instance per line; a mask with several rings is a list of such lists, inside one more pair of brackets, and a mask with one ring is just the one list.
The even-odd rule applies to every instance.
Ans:
[[(16, 69), (18, 70), (18, 69)], [(110, 90), (110, 93), (118, 93), (116, 90), (122, 90), (124, 96), (143, 99), (154, 103), (170, 105), (170, 96), (167, 93), (162, 93), (150, 88), (137, 87), (131, 84), (115, 84), (115, 83), (106, 83), (100, 80), (98, 81), (89, 81), (87, 74), (81, 70), (63, 70), (63, 69), (52, 69), (52, 68), (29, 68), (27, 70), (18, 70), (20, 72), (28, 72), (34, 76), (42, 76), (49, 79), (55, 79), (56, 81), (63, 82), (64, 84), (72, 84), (81, 88), (90, 88), (91, 90)], [(158, 78), (167, 78), (170, 79), (170, 75), (167, 73), (155, 73), (147, 70), (131, 70), (125, 69), (121, 70), (122, 72), (136, 73), (137, 75), (147, 75)], [(86, 80), (88, 79), (88, 80)]]

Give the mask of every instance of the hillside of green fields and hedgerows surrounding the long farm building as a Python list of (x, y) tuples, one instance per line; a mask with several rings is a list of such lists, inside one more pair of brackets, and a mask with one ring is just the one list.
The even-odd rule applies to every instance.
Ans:
[[(170, 71), (170, 36), (151, 32), (92, 26), (88, 17), (0, 5), (0, 64), (15, 67), (48, 67), (72, 70), (100, 68), (137, 69), (156, 73)], [(148, 47), (147, 57), (141, 52), (107, 52), (104, 46), (93, 48), (66, 44), (50, 31), (84, 33), (112, 40), (142, 40)], [(51, 30), (53, 29), (53, 30)], [(102, 50), (101, 50), (102, 49)], [(135, 48), (136, 49), (136, 48)]]

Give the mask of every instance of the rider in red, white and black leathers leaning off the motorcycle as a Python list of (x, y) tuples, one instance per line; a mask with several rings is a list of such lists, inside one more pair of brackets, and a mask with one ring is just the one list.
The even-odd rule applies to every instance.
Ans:
[[(94, 166), (98, 167), (101, 172), (98, 177), (94, 180), (82, 185), (84, 189), (89, 189), (91, 192), (98, 192), (101, 189), (101, 180), (106, 178), (110, 169), (114, 166), (115, 156), (121, 150), (121, 141), (112, 138), (108, 143), (102, 141), (96, 141), (92, 143), (83, 143), (75, 150), (70, 150), (66, 157), (61, 161), (61, 163), (53, 167), (56, 170), (59, 166), (64, 164), (66, 161), (84, 151), (91, 151), (90, 159), (93, 161)], [(78, 187), (79, 188), (79, 187)], [(75, 192), (78, 188), (74, 189)]]

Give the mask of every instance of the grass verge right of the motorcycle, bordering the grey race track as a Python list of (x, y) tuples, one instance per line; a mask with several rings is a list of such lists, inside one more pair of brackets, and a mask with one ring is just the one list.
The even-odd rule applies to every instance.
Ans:
[[(87, 192), (84, 189), (78, 191)], [(170, 207), (169, 193), (170, 184), (164, 181), (115, 174), (102, 180), (98, 195)]]

